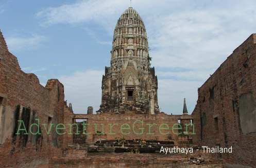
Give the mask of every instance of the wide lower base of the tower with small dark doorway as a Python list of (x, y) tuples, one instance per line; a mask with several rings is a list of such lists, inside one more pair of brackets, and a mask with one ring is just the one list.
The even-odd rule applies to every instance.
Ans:
[(157, 114), (157, 77), (155, 69), (145, 73), (128, 65), (116, 74), (111, 67), (105, 68), (102, 80), (100, 113), (114, 114)]

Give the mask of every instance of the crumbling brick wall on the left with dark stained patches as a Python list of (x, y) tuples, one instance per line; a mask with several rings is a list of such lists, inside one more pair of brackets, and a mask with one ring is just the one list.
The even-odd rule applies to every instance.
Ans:
[[(17, 58), (7, 48), (0, 31), (0, 165), (2, 167), (33, 167), (58, 156), (63, 136), (56, 132), (46, 134), (42, 123), (64, 122), (65, 113), (71, 113), (64, 102), (64, 87), (58, 80), (48, 80), (43, 87), (35, 74), (21, 70)], [(31, 135), (29, 127), (40, 120), (41, 135)], [(15, 133), (23, 120), (28, 135)], [(21, 126), (21, 128), (24, 128)], [(33, 133), (37, 126), (32, 126)]]

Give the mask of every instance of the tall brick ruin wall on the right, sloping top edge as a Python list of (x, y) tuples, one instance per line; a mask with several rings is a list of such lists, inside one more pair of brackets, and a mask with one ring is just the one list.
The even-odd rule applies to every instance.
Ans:
[(233, 147), (222, 154), (228, 163), (255, 167), (256, 151), (256, 34), (220, 65), (198, 88), (192, 113), (194, 143)]

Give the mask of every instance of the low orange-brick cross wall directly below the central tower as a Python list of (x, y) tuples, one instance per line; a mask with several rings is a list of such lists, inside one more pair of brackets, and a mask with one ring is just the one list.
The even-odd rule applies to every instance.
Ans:
[[(87, 122), (90, 125), (88, 125), (87, 133), (88, 134), (91, 133), (87, 137), (87, 142), (89, 143), (94, 143), (99, 140), (118, 140), (118, 139), (120, 140), (124, 137), (126, 140), (133, 140), (135, 138), (135, 139), (142, 139), (142, 140), (173, 141), (175, 142), (175, 144), (187, 145), (192, 143), (192, 138), (193, 138), (192, 126), (191, 125), (187, 126), (187, 132), (189, 133), (189, 135), (185, 135), (184, 132), (186, 131), (186, 126), (183, 124), (183, 123), (191, 123), (191, 120), (193, 120), (191, 115), (166, 115), (164, 113), (159, 113), (156, 115), (149, 115), (149, 114), (128, 115), (128, 114), (103, 113), (100, 115), (74, 114), (73, 116), (66, 117), (66, 121), (69, 120), (67, 123), (75, 123), (75, 120), (73, 119), (88, 119)], [(136, 120), (140, 120), (140, 121), (136, 121)], [(180, 120), (182, 129), (174, 129), (174, 132), (176, 134), (178, 133), (180, 134), (180, 135), (175, 135), (172, 131), (172, 127), (173, 125), (177, 124), (179, 120)], [(143, 125), (141, 121), (143, 121)], [(97, 129), (95, 129), (94, 124), (97, 124)], [(112, 126), (111, 132), (110, 132), (109, 124), (111, 124)], [(137, 134), (141, 134), (142, 129), (140, 128), (144, 128), (143, 134), (141, 135), (135, 134), (133, 132), (133, 124), (134, 124), (134, 132)], [(150, 124), (151, 126), (150, 127), (151, 134), (149, 134), (148, 124)], [(157, 124), (157, 125), (153, 125), (153, 124)], [(162, 134), (159, 132), (159, 127), (161, 124), (168, 125), (168, 129), (161, 129)], [(81, 128), (83, 127), (81, 126), (81, 124), (78, 124), (78, 126), (79, 126), (78, 132), (82, 133)], [(122, 133), (121, 126), (123, 128), (130, 127), (130, 129), (122, 129), (122, 132), (123, 132)], [(104, 127), (105, 135), (100, 134), (103, 130), (102, 129), (103, 127)], [(67, 133), (70, 133), (69, 128), (70, 128), (70, 125), (66, 125)], [(67, 143), (67, 144), (73, 143), (72, 136), (75, 137), (75, 139), (73, 139), (75, 141), (79, 139), (78, 136), (74, 135), (76, 133), (76, 125), (73, 125), (73, 128), (74, 128), (73, 135), (67, 135), (67, 133), (65, 135), (66, 137), (69, 137), (69, 140), (70, 140), (70, 143)], [(84, 128), (86, 128), (86, 125), (84, 125)], [(161, 128), (167, 128), (167, 126), (162, 125)], [(175, 125), (175, 128), (178, 128), (178, 125)], [(96, 134), (96, 130), (100, 135)], [(112, 134), (109, 134), (109, 133), (112, 133)], [(166, 135), (163, 135), (163, 134), (166, 134)], [(84, 140), (82, 137), (83, 135), (81, 135), (80, 139)], [(80, 144), (83, 144), (83, 142), (80, 142)]]

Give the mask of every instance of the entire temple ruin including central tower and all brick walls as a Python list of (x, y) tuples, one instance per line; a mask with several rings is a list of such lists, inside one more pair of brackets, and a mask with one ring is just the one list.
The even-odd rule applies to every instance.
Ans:
[[(181, 115), (160, 113), (149, 61), (145, 26), (129, 8), (116, 24), (100, 109), (75, 114), (57, 79), (44, 87), (21, 70), (1, 32), (0, 166), (255, 167), (256, 34), (198, 88), (191, 115), (185, 100)], [(161, 146), (193, 153), (165, 155)], [(205, 153), (202, 146), (232, 146), (232, 153)]]

